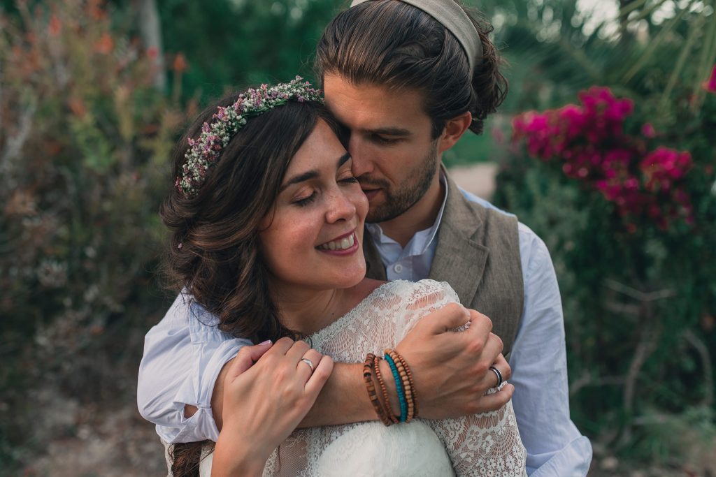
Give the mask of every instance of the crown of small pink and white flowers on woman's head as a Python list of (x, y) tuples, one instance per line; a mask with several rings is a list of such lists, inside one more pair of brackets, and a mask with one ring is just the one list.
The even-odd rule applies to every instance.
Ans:
[(184, 197), (194, 197), (199, 187), (206, 180), (209, 169), (216, 166), (221, 149), (231, 140), (236, 132), (246, 124), (246, 119), (263, 114), (276, 106), (286, 104), (289, 100), (297, 102), (323, 102), (321, 92), (311, 87), (311, 83), (296, 77), (289, 83), (279, 83), (268, 87), (262, 84), (258, 89), (248, 89), (239, 94), (234, 104), (218, 107), (213, 114), (213, 122), (205, 122), (201, 127), (198, 139), (189, 139), (186, 162), (176, 178), (175, 186)]

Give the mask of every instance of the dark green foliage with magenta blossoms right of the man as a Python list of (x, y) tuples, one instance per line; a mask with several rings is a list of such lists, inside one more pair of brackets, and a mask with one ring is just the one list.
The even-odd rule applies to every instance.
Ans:
[[(616, 454), (624, 468), (609, 475), (626, 475), (629, 462), (713, 473), (716, 4), (619, 6), (604, 21), (569, 0), (518, 2), (516, 14), (499, 7), (521, 79), (512, 111), (538, 109), (560, 124), (586, 109), (569, 105), (580, 90), (604, 85), (633, 112), (604, 137), (572, 136), (572, 157), (543, 147), (560, 143), (560, 127), (530, 149), (517, 124), (524, 142), (502, 152), (495, 202), (551, 250), (572, 417), (592, 438), (597, 468)], [(594, 164), (574, 159), (589, 149)], [(609, 152), (619, 154), (605, 160)]]

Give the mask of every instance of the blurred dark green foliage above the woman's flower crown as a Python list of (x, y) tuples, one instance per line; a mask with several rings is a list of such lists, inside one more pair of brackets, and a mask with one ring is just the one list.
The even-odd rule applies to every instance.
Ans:
[(216, 97), (226, 85), (313, 78), (311, 58), (339, 1), (159, 0), (165, 43), (190, 68), (185, 91)]

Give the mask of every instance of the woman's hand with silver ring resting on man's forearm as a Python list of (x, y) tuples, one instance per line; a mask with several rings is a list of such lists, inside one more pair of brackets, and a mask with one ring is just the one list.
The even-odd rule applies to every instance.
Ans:
[[(313, 369), (301, 359), (310, 360)], [(255, 362), (255, 364), (254, 364)], [(223, 383), (223, 428), (212, 476), (261, 475), (266, 459), (311, 409), (333, 360), (304, 341), (245, 346)]]

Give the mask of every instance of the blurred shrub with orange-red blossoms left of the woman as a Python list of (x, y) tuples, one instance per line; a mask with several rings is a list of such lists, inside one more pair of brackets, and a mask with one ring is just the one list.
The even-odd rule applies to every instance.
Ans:
[(14, 409), (0, 424), (6, 470), (23, 459), (28, 429), (37, 429), (31, 443), (46, 444), (31, 423), (43, 408), (33, 383), (82, 403), (134, 387), (126, 376), (163, 308), (157, 210), (186, 118), (100, 4), (17, 7), (0, 28), (0, 405)]

